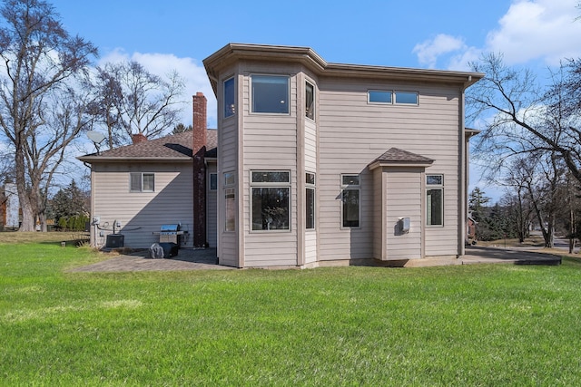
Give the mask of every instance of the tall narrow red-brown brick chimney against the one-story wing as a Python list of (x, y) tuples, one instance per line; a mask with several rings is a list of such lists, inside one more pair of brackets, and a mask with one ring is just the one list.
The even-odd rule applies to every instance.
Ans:
[(193, 247), (206, 247), (206, 117), (207, 100), (202, 92), (192, 96), (193, 113)]

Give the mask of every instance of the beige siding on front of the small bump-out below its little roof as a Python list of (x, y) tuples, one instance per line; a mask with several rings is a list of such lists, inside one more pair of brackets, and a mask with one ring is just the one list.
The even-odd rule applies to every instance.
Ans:
[[(418, 259), (421, 254), (422, 178), (418, 169), (385, 169), (387, 185), (387, 259)], [(399, 218), (409, 218), (409, 233), (396, 230)]]

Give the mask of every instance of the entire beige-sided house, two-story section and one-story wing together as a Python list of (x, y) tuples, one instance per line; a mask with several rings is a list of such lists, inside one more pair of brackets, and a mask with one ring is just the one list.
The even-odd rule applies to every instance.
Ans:
[[(326, 63), (310, 48), (259, 44), (227, 44), (203, 63), (218, 130), (205, 130), (198, 93), (189, 135), (208, 133), (205, 152), (178, 134), (80, 158), (92, 165), (94, 240), (118, 219), (129, 247), (149, 247), (166, 223), (202, 230), (226, 266), (464, 255), (474, 134), (464, 92), (483, 74)], [(133, 192), (136, 174), (148, 192)]]

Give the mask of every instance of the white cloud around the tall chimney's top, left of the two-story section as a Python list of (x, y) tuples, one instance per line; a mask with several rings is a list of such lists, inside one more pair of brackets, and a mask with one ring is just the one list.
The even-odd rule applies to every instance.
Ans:
[(117, 49), (103, 56), (99, 64), (130, 60), (141, 63), (148, 72), (162, 77), (172, 71), (179, 73), (185, 82), (185, 93), (182, 96), (184, 100), (182, 123), (186, 126), (192, 124), (192, 95), (203, 92), (208, 99), (208, 125), (210, 128), (216, 127), (216, 98), (202, 63), (192, 58), (179, 58), (171, 53), (133, 53), (130, 55)]

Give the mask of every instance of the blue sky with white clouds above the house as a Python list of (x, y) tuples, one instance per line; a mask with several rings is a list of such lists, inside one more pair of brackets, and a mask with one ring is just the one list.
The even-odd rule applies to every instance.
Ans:
[[(70, 34), (99, 48), (96, 64), (132, 59), (151, 73), (180, 73), (185, 100), (208, 98), (211, 128), (216, 101), (202, 60), (228, 43), (308, 46), (329, 63), (439, 70), (469, 70), (483, 53), (502, 53), (539, 77), (581, 57), (581, 0), (47, 1)], [(183, 123), (192, 123), (191, 104)]]

